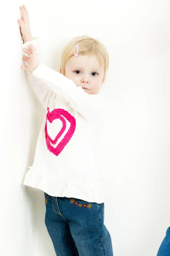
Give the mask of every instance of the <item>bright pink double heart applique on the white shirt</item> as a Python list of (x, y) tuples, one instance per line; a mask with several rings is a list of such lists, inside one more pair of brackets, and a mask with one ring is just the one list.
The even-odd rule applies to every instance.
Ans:
[[(74, 116), (71, 116), (70, 113), (65, 111), (64, 109), (54, 109), (53, 111), (49, 112), (49, 108), (47, 108), (47, 116), (46, 116), (46, 123), (45, 123), (45, 140), (48, 150), (53, 153), (54, 155), (58, 156), (61, 151), (65, 148), (67, 143), (71, 140), (71, 137), (74, 134), (75, 128), (76, 128), (76, 119)], [(64, 118), (64, 117), (65, 118)], [(60, 119), (62, 121), (62, 128), (55, 137), (54, 140), (51, 139), (51, 137), (48, 135), (47, 131), (47, 120), (52, 123), (55, 119)], [(65, 132), (66, 129), (66, 121), (65, 119), (70, 122), (70, 128), (68, 129), (68, 132), (65, 134), (64, 138), (60, 141), (60, 143), (57, 145), (56, 148), (54, 148), (51, 144), (55, 145), (59, 138), (62, 136), (62, 134)]]

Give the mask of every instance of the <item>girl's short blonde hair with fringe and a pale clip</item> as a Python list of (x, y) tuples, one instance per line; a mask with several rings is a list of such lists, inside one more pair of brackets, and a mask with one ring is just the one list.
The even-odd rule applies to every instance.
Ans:
[(61, 56), (60, 72), (65, 76), (65, 63), (69, 58), (74, 56), (74, 49), (76, 45), (79, 44), (79, 55), (89, 55), (95, 56), (99, 65), (104, 67), (104, 76), (106, 78), (106, 73), (109, 67), (109, 56), (105, 46), (94, 38), (87, 35), (78, 36), (73, 38), (63, 49)]

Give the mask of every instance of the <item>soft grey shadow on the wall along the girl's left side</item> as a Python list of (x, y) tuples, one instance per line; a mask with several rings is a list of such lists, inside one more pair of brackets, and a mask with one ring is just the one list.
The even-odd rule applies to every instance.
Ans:
[[(25, 79), (25, 72), (23, 71), (23, 76)], [(28, 83), (27, 83), (28, 84)], [(29, 144), (28, 150), (28, 157), (26, 162), (26, 170), (23, 175), (22, 180), (22, 189), (24, 198), (27, 201), (29, 207), (25, 207), (25, 209), (31, 209), (31, 224), (34, 227), (34, 237), (32, 239), (34, 243), (34, 255), (51, 255), (55, 256), (53, 244), (51, 239), (48, 235), (48, 232), (45, 227), (45, 198), (44, 192), (25, 186), (23, 185), (23, 181), (25, 178), (26, 173), (28, 172), (29, 166), (31, 166), (34, 162), (34, 154), (37, 145), (37, 139), (39, 136), (40, 128), (42, 125), (42, 121), (45, 117), (45, 111), (42, 108), (41, 103), (37, 99), (33, 89), (27, 85), (30, 92), (30, 98), (32, 99), (34, 108), (31, 113), (31, 140)], [(26, 215), (30, 214), (27, 211), (25, 212)], [(26, 219), (26, 218), (25, 218)]]

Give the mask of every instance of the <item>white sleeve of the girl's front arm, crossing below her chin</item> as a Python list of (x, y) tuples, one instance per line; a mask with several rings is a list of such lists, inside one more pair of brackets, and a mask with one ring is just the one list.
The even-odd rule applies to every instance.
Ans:
[(93, 119), (99, 113), (102, 106), (99, 95), (85, 93), (82, 87), (77, 87), (72, 80), (44, 64), (40, 64), (33, 74), (48, 84), (54, 93), (62, 96), (86, 120)]

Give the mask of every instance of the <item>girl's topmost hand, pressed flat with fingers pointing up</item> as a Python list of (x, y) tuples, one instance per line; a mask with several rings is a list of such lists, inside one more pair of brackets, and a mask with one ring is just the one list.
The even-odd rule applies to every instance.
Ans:
[(30, 29), (30, 21), (29, 21), (29, 15), (28, 15), (28, 11), (26, 9), (26, 6), (20, 6), (20, 10), (21, 10), (21, 19), (18, 19), (18, 23), (20, 26), (20, 32), (21, 32), (21, 36), (23, 38), (24, 43), (26, 43), (27, 41), (31, 41), (34, 38), (31, 35), (31, 29)]

